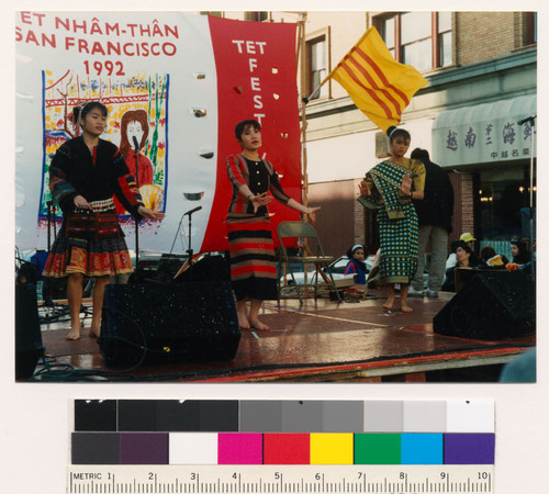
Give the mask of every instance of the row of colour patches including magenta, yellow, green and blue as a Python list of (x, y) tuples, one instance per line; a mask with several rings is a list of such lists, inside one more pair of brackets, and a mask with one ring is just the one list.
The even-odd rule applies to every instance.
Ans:
[(72, 464), (493, 464), (494, 434), (74, 433)]

